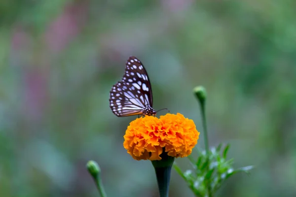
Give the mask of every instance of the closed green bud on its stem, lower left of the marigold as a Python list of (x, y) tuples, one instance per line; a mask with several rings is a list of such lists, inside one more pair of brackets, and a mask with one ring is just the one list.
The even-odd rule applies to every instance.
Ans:
[(99, 164), (96, 163), (95, 161), (89, 161), (86, 164), (86, 168), (87, 168), (88, 172), (90, 173), (90, 175), (93, 177), (101, 197), (107, 197), (106, 192), (103, 187), (103, 184), (102, 184), (101, 168), (100, 168)]

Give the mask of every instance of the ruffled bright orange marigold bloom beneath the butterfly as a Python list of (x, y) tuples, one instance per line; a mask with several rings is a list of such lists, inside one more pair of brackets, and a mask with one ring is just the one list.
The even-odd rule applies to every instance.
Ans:
[(171, 157), (186, 157), (198, 136), (194, 122), (180, 113), (145, 116), (127, 127), (123, 146), (135, 160), (161, 160), (163, 150)]

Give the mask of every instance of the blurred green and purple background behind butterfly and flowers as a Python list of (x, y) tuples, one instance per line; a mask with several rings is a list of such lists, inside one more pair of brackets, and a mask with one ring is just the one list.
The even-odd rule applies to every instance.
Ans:
[[(203, 133), (192, 88), (208, 92), (210, 145), (231, 143), (237, 174), (221, 197), (296, 196), (296, 1), (1, 0), (0, 197), (157, 197), (135, 161), (109, 91), (130, 55), (146, 66), (155, 109)], [(165, 111), (160, 112), (165, 114)], [(186, 158), (176, 162), (191, 169)], [(172, 171), (170, 197), (193, 197)]]

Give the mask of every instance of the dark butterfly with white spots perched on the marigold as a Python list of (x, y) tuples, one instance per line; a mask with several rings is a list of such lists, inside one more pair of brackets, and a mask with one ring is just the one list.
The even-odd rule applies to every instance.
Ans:
[(147, 71), (135, 56), (129, 57), (125, 73), (110, 91), (110, 108), (118, 117), (156, 115), (152, 108), (152, 89)]

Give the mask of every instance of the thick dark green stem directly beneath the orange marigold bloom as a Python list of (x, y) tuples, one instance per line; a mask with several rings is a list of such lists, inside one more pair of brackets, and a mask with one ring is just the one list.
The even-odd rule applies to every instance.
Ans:
[(164, 152), (160, 157), (162, 158), (161, 160), (151, 162), (155, 169), (160, 197), (169, 197), (171, 169), (175, 158), (168, 156)]

